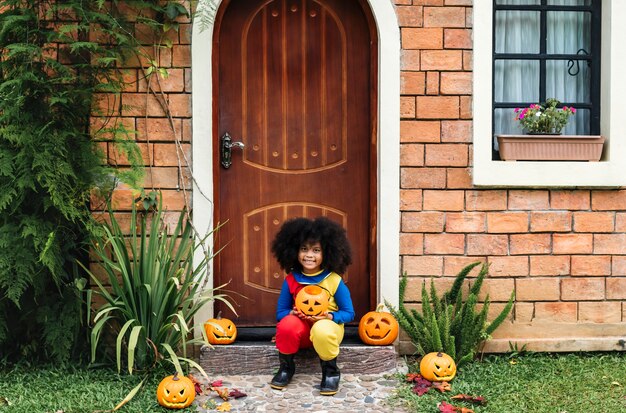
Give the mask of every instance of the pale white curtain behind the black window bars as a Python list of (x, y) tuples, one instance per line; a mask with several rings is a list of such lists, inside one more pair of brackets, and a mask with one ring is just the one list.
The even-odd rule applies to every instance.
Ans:
[[(497, 0), (497, 4), (540, 4), (540, 0)], [(584, 5), (588, 0), (550, 0), (549, 5)], [(590, 14), (553, 11), (547, 13), (548, 54), (590, 53)], [(539, 53), (540, 12), (502, 10), (494, 22), (496, 53)], [(538, 60), (497, 60), (494, 65), (496, 102), (539, 102)], [(590, 101), (590, 70), (585, 61), (548, 60), (546, 62), (546, 98), (562, 102)], [(572, 105), (575, 107), (575, 105)], [(496, 109), (494, 135), (516, 134), (521, 129), (514, 121), (513, 109)], [(589, 111), (577, 110), (564, 134), (588, 134)], [(494, 139), (494, 145), (497, 145)], [(497, 150), (497, 146), (495, 147)]]

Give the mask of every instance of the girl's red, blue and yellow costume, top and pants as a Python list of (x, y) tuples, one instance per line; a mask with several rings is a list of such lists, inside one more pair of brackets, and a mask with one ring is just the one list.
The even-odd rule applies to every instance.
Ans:
[[(298, 291), (310, 284), (319, 285), (328, 292), (328, 311), (332, 314), (332, 320), (319, 320), (310, 324), (290, 314)], [(280, 353), (295, 354), (301, 348), (312, 346), (320, 359), (333, 360), (339, 354), (344, 323), (354, 319), (350, 290), (341, 276), (334, 272), (323, 270), (317, 274), (305, 275), (294, 271), (283, 283), (278, 297), (276, 319), (276, 348)]]

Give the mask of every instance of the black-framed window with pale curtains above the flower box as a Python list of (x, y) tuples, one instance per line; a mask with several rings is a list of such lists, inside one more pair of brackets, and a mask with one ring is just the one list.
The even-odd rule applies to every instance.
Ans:
[(576, 109), (564, 134), (599, 135), (601, 0), (494, 0), (493, 13), (494, 137), (549, 98)]

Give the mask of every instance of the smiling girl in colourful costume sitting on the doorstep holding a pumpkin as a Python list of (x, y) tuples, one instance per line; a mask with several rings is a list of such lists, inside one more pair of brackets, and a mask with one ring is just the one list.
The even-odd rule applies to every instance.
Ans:
[[(289, 274), (283, 282), (276, 309), (276, 348), (280, 367), (270, 386), (283, 389), (296, 371), (294, 355), (313, 347), (322, 365), (320, 393), (331, 396), (339, 389), (337, 367), (344, 323), (354, 319), (350, 290), (340, 274), (352, 263), (346, 231), (328, 218), (294, 218), (286, 221), (272, 242), (272, 253)], [(295, 306), (295, 297), (306, 285), (328, 292), (328, 311), (307, 316)]]

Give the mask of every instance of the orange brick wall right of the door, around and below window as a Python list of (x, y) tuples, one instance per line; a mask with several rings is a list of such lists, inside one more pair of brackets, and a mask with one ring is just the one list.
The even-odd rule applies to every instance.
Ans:
[[(407, 300), (446, 288), (466, 264), (490, 264), (483, 287), (537, 350), (623, 349), (626, 190), (472, 186), (472, 1), (396, 0), (401, 30), (401, 246)], [(403, 348), (411, 351), (408, 343)]]

